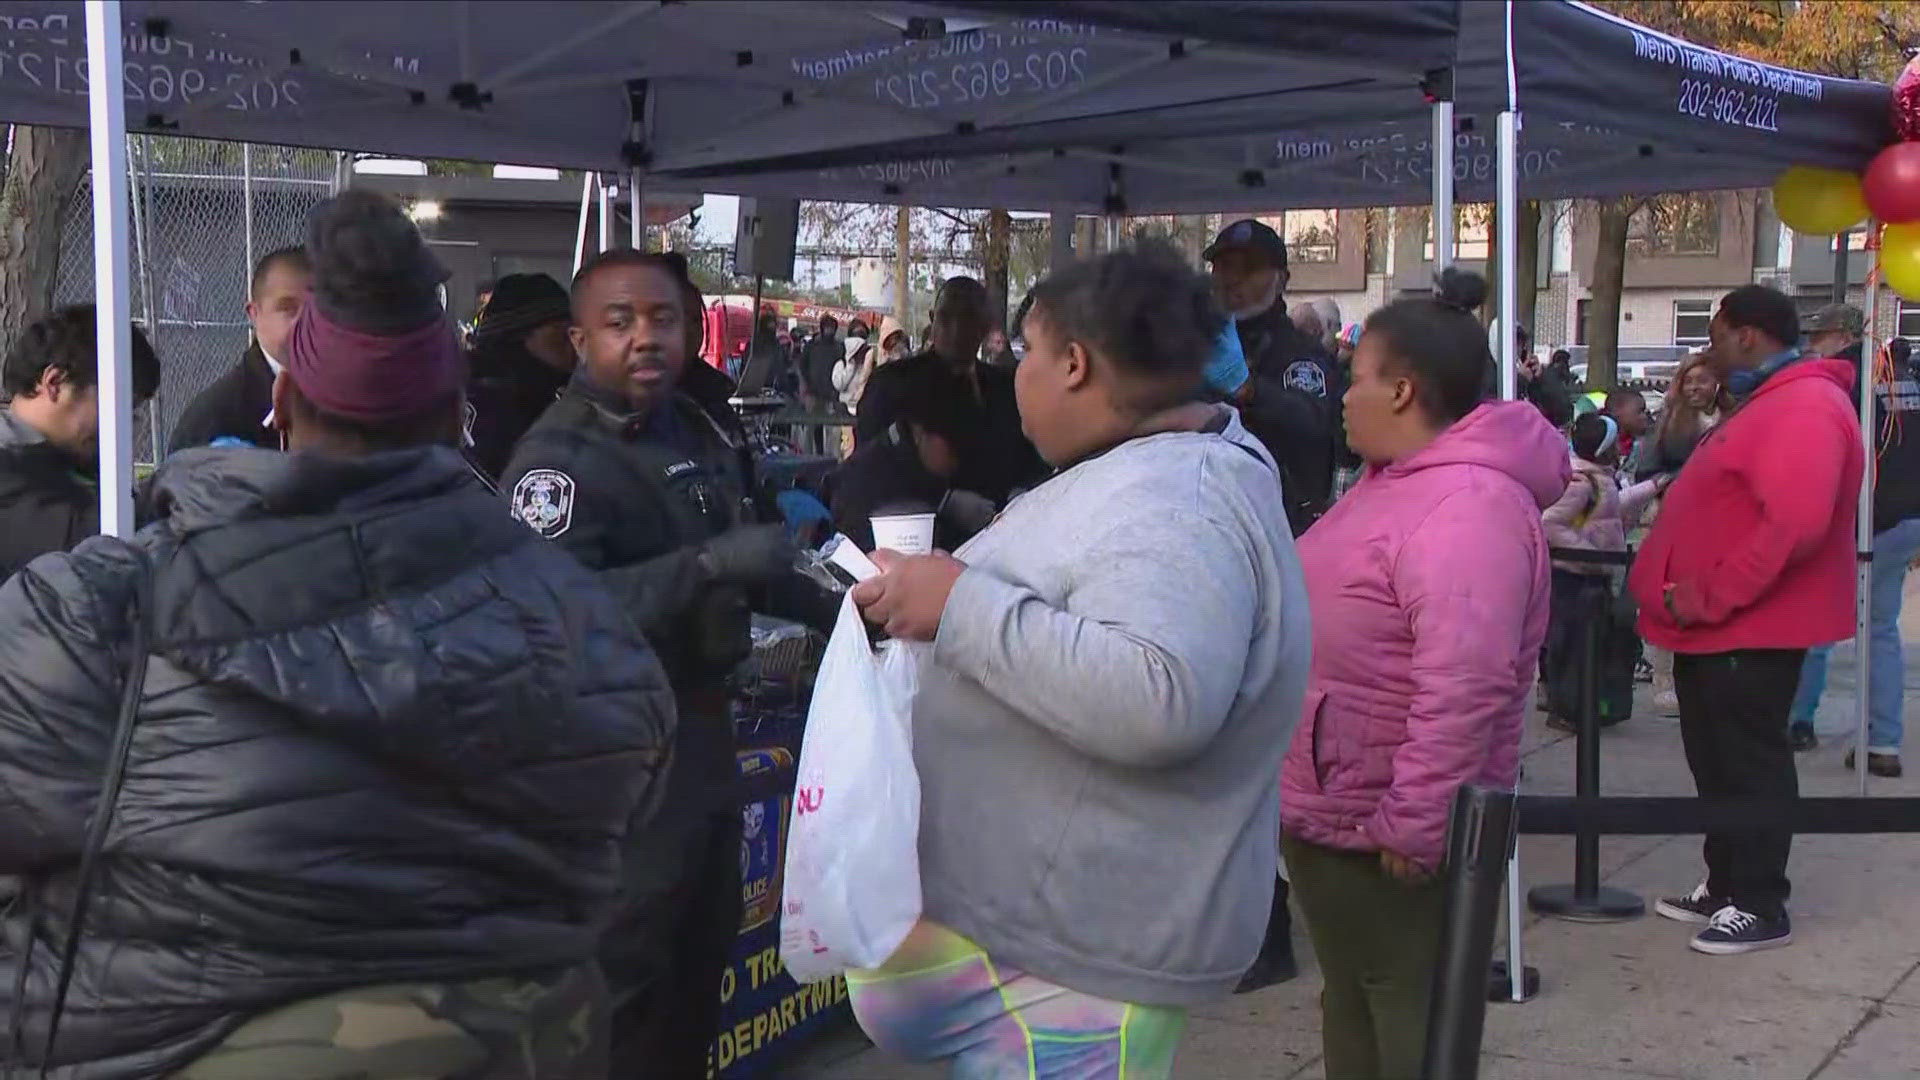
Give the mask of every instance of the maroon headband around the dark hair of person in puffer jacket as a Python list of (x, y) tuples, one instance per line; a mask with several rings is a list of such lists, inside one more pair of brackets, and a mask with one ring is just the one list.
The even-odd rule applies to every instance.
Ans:
[(467, 379), (467, 359), (445, 317), (401, 334), (367, 334), (307, 304), (286, 340), (286, 373), (321, 411), (382, 423), (451, 402)]

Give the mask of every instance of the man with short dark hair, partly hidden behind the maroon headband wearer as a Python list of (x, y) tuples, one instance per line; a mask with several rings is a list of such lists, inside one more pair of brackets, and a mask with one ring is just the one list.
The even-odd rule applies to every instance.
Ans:
[(240, 363), (186, 405), (167, 438), (167, 454), (213, 442), (280, 448), (280, 432), (269, 423), (273, 379), (280, 373), (294, 319), (311, 296), (313, 267), (305, 248), (267, 252), (253, 265), (246, 302), (253, 340), (240, 354)]

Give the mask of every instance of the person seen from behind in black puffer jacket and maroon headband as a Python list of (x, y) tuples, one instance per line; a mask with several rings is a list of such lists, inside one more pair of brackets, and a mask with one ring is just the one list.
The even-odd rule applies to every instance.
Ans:
[(8, 1057), (63, 1080), (605, 1076), (593, 957), (662, 788), (666, 678), (453, 450), (444, 271), (401, 211), (342, 194), (309, 250), (275, 384), (290, 454), (177, 454), (131, 542), (0, 588)]

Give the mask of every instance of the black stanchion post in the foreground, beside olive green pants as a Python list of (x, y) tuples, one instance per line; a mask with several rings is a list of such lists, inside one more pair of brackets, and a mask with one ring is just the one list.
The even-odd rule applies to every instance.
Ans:
[(1461, 788), (1446, 842), (1446, 922), (1427, 1007), (1421, 1080), (1475, 1080), (1486, 1026), (1486, 963), (1500, 920), (1500, 884), (1513, 851), (1513, 792)]

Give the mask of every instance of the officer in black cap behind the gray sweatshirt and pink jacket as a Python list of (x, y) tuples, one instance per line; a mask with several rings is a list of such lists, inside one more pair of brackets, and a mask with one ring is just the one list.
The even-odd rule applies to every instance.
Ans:
[(1229, 394), (1240, 421), (1281, 465), (1294, 536), (1327, 513), (1332, 473), (1346, 450), (1340, 398), (1346, 377), (1317, 338), (1286, 315), (1286, 242), (1250, 217), (1221, 229), (1206, 250), (1213, 292), (1240, 331), (1250, 379)]

